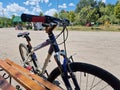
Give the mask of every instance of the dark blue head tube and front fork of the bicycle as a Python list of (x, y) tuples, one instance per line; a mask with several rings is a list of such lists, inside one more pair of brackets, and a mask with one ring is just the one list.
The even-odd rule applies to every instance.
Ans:
[[(65, 28), (64, 28), (64, 29), (65, 29)], [(65, 68), (64, 68), (64, 67), (62, 66), (61, 62), (60, 62), (60, 53), (61, 53), (61, 51), (60, 51), (60, 49), (59, 49), (59, 46), (58, 46), (57, 41), (56, 41), (56, 39), (55, 39), (55, 36), (54, 36), (54, 34), (53, 34), (53, 32), (52, 32), (53, 28), (47, 29), (47, 30), (48, 30), (49, 39), (50, 39), (50, 41), (51, 41), (51, 45), (53, 46), (53, 49), (54, 49), (54, 51), (55, 51), (54, 58), (55, 58), (55, 61), (56, 61), (57, 65), (58, 65), (58, 68), (59, 68), (59, 70), (60, 70), (62, 80), (64, 81), (64, 84), (65, 84), (67, 90), (72, 90), (71, 84), (70, 84), (70, 82), (69, 82), (69, 80), (68, 80), (68, 74), (67, 74), (68, 71), (64, 71), (64, 69), (67, 67), (67, 66), (66, 66), (67, 64), (64, 65), (64, 66), (65, 66)], [(50, 32), (49, 32), (49, 31), (50, 31)], [(66, 54), (65, 54), (65, 55), (66, 55)], [(63, 56), (63, 57), (64, 57), (64, 56)], [(65, 56), (65, 57), (64, 57), (65, 61), (66, 61), (66, 58), (67, 58), (67, 57)], [(70, 72), (70, 75), (72, 76), (72, 80), (73, 80), (73, 83), (74, 83), (74, 85), (75, 85), (75, 89), (76, 89), (76, 90), (80, 90), (74, 74)]]

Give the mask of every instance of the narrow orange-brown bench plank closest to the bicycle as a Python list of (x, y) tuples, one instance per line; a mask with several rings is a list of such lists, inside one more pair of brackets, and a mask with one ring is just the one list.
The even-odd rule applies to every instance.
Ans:
[(58, 86), (56, 86), (56, 85), (48, 82), (47, 80), (45, 80), (45, 79), (31, 73), (29, 70), (23, 68), (22, 66), (14, 63), (13, 61), (11, 61), (9, 59), (6, 59), (5, 62), (8, 63), (9, 65), (11, 65), (12, 67), (17, 68), (18, 70), (25, 73), (26, 75), (30, 76), (32, 79), (35, 79), (37, 82), (41, 83), (43, 86), (49, 88), (50, 90), (62, 90)]

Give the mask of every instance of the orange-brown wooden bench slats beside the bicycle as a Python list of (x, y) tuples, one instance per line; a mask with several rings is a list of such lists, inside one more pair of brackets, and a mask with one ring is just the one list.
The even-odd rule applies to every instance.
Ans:
[[(61, 90), (61, 88), (59, 88), (58, 86), (33, 74), (32, 72), (28, 71), (27, 69), (23, 68), (22, 66), (14, 63), (9, 59), (0, 60), (0, 67), (3, 68), (12, 78), (14, 78), (26, 90), (46, 90), (46, 88), (48, 88), (49, 90)], [(4, 79), (2, 78), (1, 80)], [(12, 85), (10, 85), (10, 87), (12, 88)], [(3, 90), (15, 90), (15, 89), (3, 89)]]

